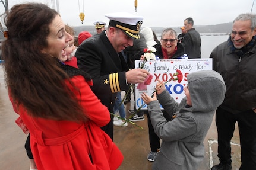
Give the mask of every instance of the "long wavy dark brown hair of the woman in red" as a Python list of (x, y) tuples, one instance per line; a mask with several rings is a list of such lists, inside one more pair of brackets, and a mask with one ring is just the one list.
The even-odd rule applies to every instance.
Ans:
[[(56, 54), (47, 49), (49, 25), (58, 12), (40, 3), (14, 5), (5, 17), (8, 39), (2, 44), (5, 82), (16, 108), (21, 105), (33, 117), (86, 121), (72, 92), (76, 89), (61, 69)], [(69, 89), (67, 79), (73, 86)]]

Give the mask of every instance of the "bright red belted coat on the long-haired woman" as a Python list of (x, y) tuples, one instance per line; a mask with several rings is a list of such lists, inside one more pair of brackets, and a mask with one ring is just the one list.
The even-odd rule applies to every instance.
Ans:
[(122, 153), (100, 129), (110, 121), (109, 110), (97, 99), (83, 76), (74, 76), (71, 80), (80, 89), (80, 94), (75, 94), (90, 119), (86, 124), (33, 118), (23, 107), (15, 110), (30, 131), (37, 169), (117, 169), (123, 160)]

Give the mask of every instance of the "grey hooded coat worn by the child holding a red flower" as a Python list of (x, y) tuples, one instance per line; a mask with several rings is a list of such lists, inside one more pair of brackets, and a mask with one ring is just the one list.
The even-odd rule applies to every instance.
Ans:
[[(153, 169), (195, 170), (204, 159), (203, 141), (224, 100), (226, 86), (213, 70), (193, 72), (187, 78), (192, 107), (186, 104), (186, 97), (178, 104), (167, 91), (157, 95), (159, 101), (148, 104), (154, 131), (162, 139)], [(172, 121), (163, 117), (159, 102), (167, 113), (176, 115)]]

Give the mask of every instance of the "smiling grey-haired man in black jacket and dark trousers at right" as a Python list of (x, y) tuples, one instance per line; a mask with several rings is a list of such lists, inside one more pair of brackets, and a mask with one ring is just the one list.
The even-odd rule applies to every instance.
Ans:
[(226, 97), (216, 111), (218, 157), (220, 164), (212, 170), (232, 169), (230, 141), (238, 123), (241, 166), (256, 167), (256, 15), (240, 14), (233, 20), (229, 39), (210, 54), (213, 70), (226, 83)]

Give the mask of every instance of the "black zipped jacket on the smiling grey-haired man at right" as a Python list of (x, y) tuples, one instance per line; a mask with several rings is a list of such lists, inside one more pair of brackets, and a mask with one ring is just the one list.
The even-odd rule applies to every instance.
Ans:
[(239, 57), (226, 41), (213, 49), (210, 58), (213, 70), (223, 76), (226, 84), (225, 100), (220, 107), (231, 113), (256, 108), (256, 43)]

